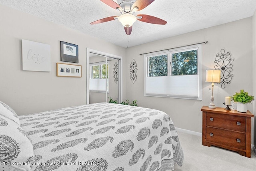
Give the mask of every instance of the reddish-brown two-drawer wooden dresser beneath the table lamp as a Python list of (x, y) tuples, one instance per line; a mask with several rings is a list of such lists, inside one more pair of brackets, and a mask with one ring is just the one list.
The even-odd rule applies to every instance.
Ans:
[(251, 157), (251, 117), (254, 115), (222, 107), (201, 108), (203, 112), (202, 144), (217, 146)]

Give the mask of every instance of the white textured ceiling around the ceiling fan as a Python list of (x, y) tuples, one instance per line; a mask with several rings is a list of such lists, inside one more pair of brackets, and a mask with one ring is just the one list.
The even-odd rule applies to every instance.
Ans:
[[(120, 4), (122, 0), (115, 2)], [(125, 48), (247, 18), (256, 10), (256, 0), (155, 0), (134, 15), (156, 16), (167, 24), (137, 20), (132, 34), (127, 36), (118, 20), (89, 24), (120, 15), (100, 0), (1, 0), (0, 3)]]

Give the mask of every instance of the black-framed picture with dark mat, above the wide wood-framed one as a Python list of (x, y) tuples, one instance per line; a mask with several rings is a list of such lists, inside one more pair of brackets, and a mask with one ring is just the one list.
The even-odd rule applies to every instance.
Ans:
[(60, 60), (78, 63), (78, 45), (60, 41)]

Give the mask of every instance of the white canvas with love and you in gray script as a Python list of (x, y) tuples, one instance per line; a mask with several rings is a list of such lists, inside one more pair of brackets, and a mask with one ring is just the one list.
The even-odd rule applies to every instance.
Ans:
[(22, 70), (24, 71), (51, 71), (51, 46), (21, 40), (22, 44)]

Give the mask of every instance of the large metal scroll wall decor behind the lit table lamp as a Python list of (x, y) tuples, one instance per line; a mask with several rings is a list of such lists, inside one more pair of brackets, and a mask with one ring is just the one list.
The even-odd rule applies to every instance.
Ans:
[(222, 88), (226, 87), (226, 84), (230, 84), (233, 74), (231, 72), (233, 71), (232, 67), (233, 65), (231, 64), (234, 59), (232, 59), (231, 55), (229, 52), (225, 54), (225, 50), (222, 49), (220, 50), (221, 54), (217, 54), (215, 58), (215, 63), (216, 66), (214, 66), (215, 69), (221, 70), (221, 78), (220, 78), (220, 83)]

